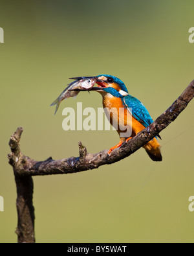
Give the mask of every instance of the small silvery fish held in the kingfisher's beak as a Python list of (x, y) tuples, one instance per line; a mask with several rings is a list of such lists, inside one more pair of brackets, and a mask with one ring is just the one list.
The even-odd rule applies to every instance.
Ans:
[(59, 95), (58, 99), (54, 100), (50, 106), (56, 105), (56, 110), (54, 112), (54, 115), (58, 111), (59, 104), (62, 100), (68, 99), (70, 97), (76, 97), (80, 91), (89, 91), (94, 84), (96, 84), (95, 78), (85, 78), (81, 80), (76, 80), (72, 83), (70, 83), (67, 88)]

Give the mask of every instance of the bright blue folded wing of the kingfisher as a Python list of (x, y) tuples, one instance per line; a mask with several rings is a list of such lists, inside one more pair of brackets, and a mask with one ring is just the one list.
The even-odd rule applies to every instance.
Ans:
[(149, 124), (153, 122), (149, 112), (140, 100), (132, 97), (131, 95), (127, 95), (124, 97), (124, 104), (127, 108), (131, 108), (131, 110), (129, 110), (130, 113), (145, 127), (149, 126)]

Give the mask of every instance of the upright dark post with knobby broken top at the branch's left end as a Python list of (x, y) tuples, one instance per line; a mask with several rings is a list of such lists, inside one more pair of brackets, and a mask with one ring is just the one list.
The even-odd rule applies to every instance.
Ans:
[(14, 169), (17, 189), (17, 240), (19, 243), (34, 243), (33, 180), (31, 176), (19, 175), (19, 170), (23, 168), (25, 158), (19, 147), (22, 132), (23, 128), (19, 127), (11, 136), (9, 145), (12, 153), (8, 155), (8, 159)]

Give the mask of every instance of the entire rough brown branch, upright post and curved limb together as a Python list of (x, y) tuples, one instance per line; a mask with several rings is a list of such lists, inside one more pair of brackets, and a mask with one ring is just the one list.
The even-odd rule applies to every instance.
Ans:
[(17, 128), (17, 131), (10, 139), (11, 153), (8, 155), (8, 159), (14, 169), (17, 187), (18, 224), (16, 233), (18, 235), (18, 242), (35, 242), (32, 176), (69, 174), (97, 169), (102, 165), (116, 163), (135, 153), (136, 150), (160, 134), (171, 122), (175, 121), (178, 115), (188, 106), (193, 96), (194, 80), (155, 122), (138, 133), (133, 139), (130, 139), (128, 143), (124, 143), (120, 148), (111, 152), (111, 156), (107, 154), (108, 150), (103, 150), (97, 154), (89, 154), (85, 146), (79, 141), (79, 157), (70, 157), (61, 160), (53, 160), (52, 157), (49, 157), (45, 161), (35, 161), (21, 153), (19, 141), (23, 133), (23, 128)]

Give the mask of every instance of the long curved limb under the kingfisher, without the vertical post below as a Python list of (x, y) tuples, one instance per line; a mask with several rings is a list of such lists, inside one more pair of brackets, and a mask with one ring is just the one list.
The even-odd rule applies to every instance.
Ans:
[[(79, 142), (80, 157), (70, 157), (67, 159), (53, 160), (49, 157), (45, 161), (34, 161), (29, 157), (23, 156), (20, 153), (20, 168), (17, 169), (17, 174), (28, 176), (50, 175), (50, 174), (69, 174), (73, 172), (81, 172), (89, 169), (96, 169), (102, 165), (110, 165), (127, 156), (130, 156), (136, 150), (144, 146), (148, 141), (160, 134), (171, 122), (175, 121), (178, 115), (186, 108), (188, 103), (193, 99), (194, 95), (194, 80), (189, 84), (186, 90), (178, 97), (178, 99), (164, 112), (155, 122), (149, 127), (145, 128), (136, 137), (131, 139), (128, 143), (124, 143), (120, 148), (114, 150), (111, 156), (107, 154), (107, 150), (103, 150), (97, 154), (89, 154), (85, 146)], [(17, 129), (15, 136), (20, 138), (21, 128)], [(18, 139), (19, 141), (19, 139)], [(11, 143), (13, 145), (14, 143)], [(15, 148), (16, 154), (13, 152)], [(14, 157), (18, 157), (19, 146), (12, 146), (12, 153)], [(9, 157), (10, 158), (10, 157)]]

